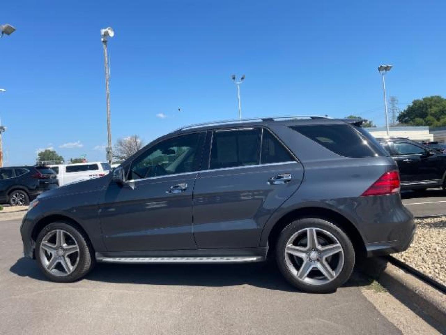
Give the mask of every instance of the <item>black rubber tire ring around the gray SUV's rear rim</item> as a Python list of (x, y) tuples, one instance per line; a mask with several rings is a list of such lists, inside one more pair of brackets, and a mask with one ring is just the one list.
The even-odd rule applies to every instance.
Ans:
[[(339, 241), (339, 244), (342, 247), (343, 262), (339, 263), (339, 273), (337, 274), (337, 276), (334, 277), (334, 279), (327, 283), (315, 285), (304, 282), (298, 279), (287, 265), (285, 247), (289, 242), (289, 239), (291, 239), (297, 232), (308, 228), (316, 228), (318, 229), (318, 231), (328, 232)], [(327, 236), (330, 236), (329, 234)], [(320, 237), (318, 236), (318, 239), (319, 238)], [(291, 258), (293, 258), (293, 256), (289, 256), (288, 260), (290, 260)], [(355, 265), (355, 250), (347, 234), (345, 234), (342, 229), (340, 229), (338, 226), (335, 226), (332, 222), (320, 218), (299, 218), (286, 226), (279, 235), (276, 245), (276, 260), (277, 266), (279, 267), (282, 275), (291, 285), (295, 286), (297, 289), (310, 293), (329, 293), (334, 292), (338, 287), (343, 285), (350, 278), (351, 272), (353, 271), (353, 267)], [(320, 262), (319, 259), (317, 261)], [(312, 262), (314, 262), (314, 260)], [(316, 273), (318, 272), (317, 268), (314, 268), (314, 270), (316, 271)], [(309, 274), (310, 273), (314, 272), (309, 272)], [(322, 272), (320, 272), (320, 274), (322, 275)]]

